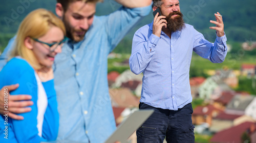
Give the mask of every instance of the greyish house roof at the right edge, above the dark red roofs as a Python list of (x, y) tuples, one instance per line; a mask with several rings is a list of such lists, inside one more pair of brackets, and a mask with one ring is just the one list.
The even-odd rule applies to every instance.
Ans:
[(245, 109), (251, 103), (253, 98), (254, 98), (253, 96), (236, 95), (227, 104), (226, 108), (227, 109), (234, 109), (234, 110), (245, 111)]

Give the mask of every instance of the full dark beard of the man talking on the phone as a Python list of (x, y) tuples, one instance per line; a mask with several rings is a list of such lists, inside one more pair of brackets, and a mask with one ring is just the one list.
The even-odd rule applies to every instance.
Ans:
[[(173, 15), (176, 15), (174, 19), (172, 18)], [(167, 28), (170, 32), (176, 32), (176, 31), (181, 31), (185, 27), (185, 22), (183, 20), (183, 14), (179, 11), (177, 12), (172, 12), (168, 16), (166, 16), (166, 21), (167, 21)]]

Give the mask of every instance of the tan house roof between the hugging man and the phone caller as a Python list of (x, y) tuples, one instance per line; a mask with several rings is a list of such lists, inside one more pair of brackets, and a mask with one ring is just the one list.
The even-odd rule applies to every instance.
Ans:
[(135, 97), (130, 89), (110, 89), (112, 106), (115, 107), (138, 107), (139, 98)]

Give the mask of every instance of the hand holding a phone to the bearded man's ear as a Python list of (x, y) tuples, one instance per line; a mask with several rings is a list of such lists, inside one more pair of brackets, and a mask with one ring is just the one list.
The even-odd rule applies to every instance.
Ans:
[[(155, 12), (156, 11), (156, 12)], [(164, 19), (165, 16), (161, 15), (160, 9), (156, 9), (153, 12), (153, 15), (155, 14), (154, 17), (154, 23), (153, 23), (153, 34), (160, 37), (161, 36), (161, 31), (162, 27), (164, 26), (165, 28), (167, 27), (167, 21)], [(160, 16), (158, 16), (160, 15)]]

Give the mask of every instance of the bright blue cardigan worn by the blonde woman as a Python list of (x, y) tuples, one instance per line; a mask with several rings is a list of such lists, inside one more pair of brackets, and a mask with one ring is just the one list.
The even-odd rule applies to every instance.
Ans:
[[(24, 120), (6, 119), (0, 117), (0, 142), (40, 142), (56, 140), (59, 127), (59, 115), (57, 111), (56, 93), (53, 80), (42, 82), (45, 88), (48, 106), (42, 124), (42, 136), (37, 129), (37, 82), (34, 69), (23, 59), (11, 59), (0, 72), (0, 89), (4, 85), (19, 83), (18, 89), (10, 92), (11, 95), (27, 94), (32, 96), (34, 104), (32, 110), (27, 113), (19, 113)], [(8, 95), (10, 96), (10, 95)], [(5, 122), (7, 120), (7, 122)], [(6, 139), (6, 126), (8, 139)]]

